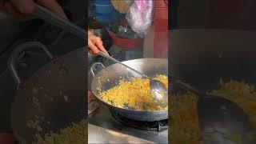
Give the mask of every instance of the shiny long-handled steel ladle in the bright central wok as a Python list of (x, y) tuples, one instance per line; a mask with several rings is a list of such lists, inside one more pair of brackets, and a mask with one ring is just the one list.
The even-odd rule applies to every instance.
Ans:
[(105, 57), (107, 59), (110, 59), (113, 62), (117, 62), (118, 64), (121, 64), (122, 66), (125, 66), (126, 68), (133, 70), (134, 72), (141, 74), (145, 78), (150, 79), (150, 90), (152, 97), (154, 98), (154, 101), (158, 103), (159, 106), (166, 107), (168, 105), (168, 90), (166, 86), (156, 79), (148, 77), (146, 74), (142, 74), (138, 70), (134, 70), (132, 67), (127, 66), (126, 64), (119, 62), (117, 59), (110, 57), (109, 55), (99, 52), (102, 57)]

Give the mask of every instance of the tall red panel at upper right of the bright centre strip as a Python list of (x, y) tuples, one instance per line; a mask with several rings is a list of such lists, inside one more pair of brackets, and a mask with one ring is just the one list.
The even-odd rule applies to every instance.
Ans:
[(165, 2), (154, 1), (153, 23), (154, 58), (168, 58), (168, 6)]

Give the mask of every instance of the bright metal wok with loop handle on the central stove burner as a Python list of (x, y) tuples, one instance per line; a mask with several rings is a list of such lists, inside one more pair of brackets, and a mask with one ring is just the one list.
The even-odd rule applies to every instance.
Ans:
[[(164, 74), (164, 75), (168, 74), (168, 61), (166, 59), (141, 58), (141, 59), (126, 61), (123, 63), (150, 77), (154, 77), (157, 74)], [(97, 66), (102, 66), (103, 69), (100, 70), (98, 74), (95, 75), (94, 70), (97, 68)], [(91, 66), (90, 70), (94, 75), (94, 78), (91, 83), (91, 90), (100, 102), (103, 102), (103, 101), (102, 101), (102, 98), (99, 97), (99, 93), (100, 93), (100, 90), (98, 90), (99, 86), (101, 87), (101, 90), (104, 91), (112, 88), (113, 86), (117, 86), (119, 80), (121, 79), (130, 80), (130, 78), (132, 77), (142, 78), (141, 75), (135, 73), (134, 71), (130, 71), (126, 69), (125, 67), (123, 67), (118, 63), (105, 67), (103, 66), (102, 63), (96, 62)], [(134, 97), (136, 97), (136, 95), (134, 95)], [(103, 102), (103, 103), (106, 106), (108, 106), (110, 110), (113, 110), (115, 113), (121, 114), (126, 118), (134, 119), (137, 121), (153, 122), (153, 121), (168, 119), (168, 110), (152, 110), (152, 111), (130, 110), (130, 109), (119, 108), (117, 106), (111, 106), (106, 102)]]

